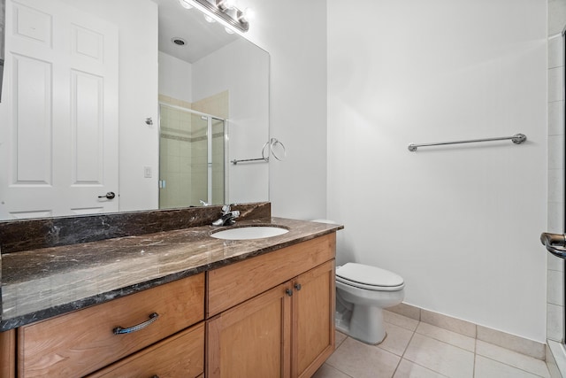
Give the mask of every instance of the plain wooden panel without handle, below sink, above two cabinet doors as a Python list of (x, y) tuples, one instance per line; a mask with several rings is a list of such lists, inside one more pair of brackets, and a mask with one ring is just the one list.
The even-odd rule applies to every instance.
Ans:
[(319, 266), (335, 254), (336, 234), (332, 233), (211, 270), (207, 273), (207, 318)]

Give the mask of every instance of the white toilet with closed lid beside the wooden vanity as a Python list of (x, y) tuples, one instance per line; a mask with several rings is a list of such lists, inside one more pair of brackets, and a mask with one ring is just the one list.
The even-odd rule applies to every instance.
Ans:
[(400, 275), (376, 266), (348, 263), (336, 268), (336, 328), (363, 343), (386, 337), (383, 309), (405, 297)]

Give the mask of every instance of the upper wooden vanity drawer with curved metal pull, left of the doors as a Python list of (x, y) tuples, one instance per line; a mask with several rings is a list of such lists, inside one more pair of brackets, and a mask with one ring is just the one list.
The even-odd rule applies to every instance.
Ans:
[[(157, 319), (133, 333), (114, 335)], [(203, 320), (204, 274), (166, 283), (18, 330), (21, 377), (76, 377), (139, 351), (149, 344)]]

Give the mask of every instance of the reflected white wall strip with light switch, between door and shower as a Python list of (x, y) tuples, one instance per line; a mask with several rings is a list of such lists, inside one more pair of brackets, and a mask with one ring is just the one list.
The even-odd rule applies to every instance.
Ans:
[[(157, 209), (157, 4), (65, 1), (119, 27), (119, 210)], [(144, 166), (151, 167), (151, 178), (144, 178)]]

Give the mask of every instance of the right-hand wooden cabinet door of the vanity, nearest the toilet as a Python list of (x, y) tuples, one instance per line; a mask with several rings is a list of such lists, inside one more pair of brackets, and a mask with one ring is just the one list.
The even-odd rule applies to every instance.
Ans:
[(334, 260), (301, 274), (293, 287), (292, 376), (310, 377), (334, 351)]

